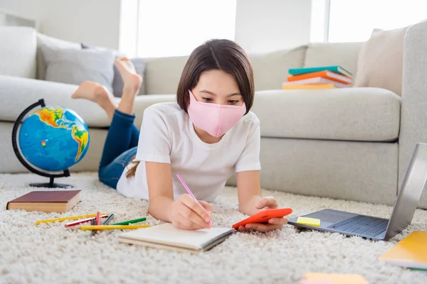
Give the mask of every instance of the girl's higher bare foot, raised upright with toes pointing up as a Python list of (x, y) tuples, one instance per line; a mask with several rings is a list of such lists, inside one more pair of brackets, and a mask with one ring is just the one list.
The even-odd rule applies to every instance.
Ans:
[(135, 71), (135, 66), (128, 58), (117, 58), (115, 66), (123, 80), (123, 93), (117, 110), (125, 114), (134, 113), (135, 96), (142, 84), (142, 77)]

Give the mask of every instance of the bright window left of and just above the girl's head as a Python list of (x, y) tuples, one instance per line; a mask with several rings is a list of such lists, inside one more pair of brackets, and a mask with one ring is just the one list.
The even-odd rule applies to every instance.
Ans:
[(139, 0), (137, 56), (189, 55), (211, 38), (234, 40), (236, 0)]

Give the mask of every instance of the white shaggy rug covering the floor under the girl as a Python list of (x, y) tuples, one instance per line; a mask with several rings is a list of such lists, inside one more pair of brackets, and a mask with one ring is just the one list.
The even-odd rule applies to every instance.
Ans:
[[(410, 271), (377, 258), (413, 230), (427, 229), (427, 211), (417, 210), (411, 226), (389, 242), (340, 234), (298, 231), (236, 233), (200, 255), (120, 244), (116, 234), (91, 237), (63, 223), (35, 225), (39, 219), (113, 212), (115, 222), (147, 216), (147, 202), (123, 197), (102, 185), (95, 173), (58, 179), (83, 190), (82, 202), (64, 214), (6, 210), (6, 202), (31, 190), (35, 175), (0, 175), (0, 283), (298, 283), (304, 273), (357, 273), (369, 283), (427, 283), (427, 273)], [(391, 207), (304, 197), (264, 190), (293, 216), (324, 208), (389, 217)], [(216, 200), (215, 226), (231, 226), (245, 216), (237, 211), (236, 189)], [(159, 221), (148, 216), (148, 223)]]

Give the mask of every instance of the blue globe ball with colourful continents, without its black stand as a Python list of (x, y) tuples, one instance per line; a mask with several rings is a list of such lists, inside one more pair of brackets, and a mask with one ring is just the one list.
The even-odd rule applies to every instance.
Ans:
[(26, 160), (41, 170), (67, 170), (88, 151), (88, 126), (70, 109), (42, 106), (22, 121), (19, 148)]

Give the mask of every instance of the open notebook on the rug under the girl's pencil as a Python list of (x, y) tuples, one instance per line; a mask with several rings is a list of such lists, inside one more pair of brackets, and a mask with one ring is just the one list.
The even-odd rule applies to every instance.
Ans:
[(137, 229), (120, 234), (119, 241), (127, 244), (152, 246), (158, 249), (172, 249), (199, 253), (220, 244), (233, 233), (232, 228), (211, 228), (197, 231), (176, 229), (165, 223), (149, 228)]

